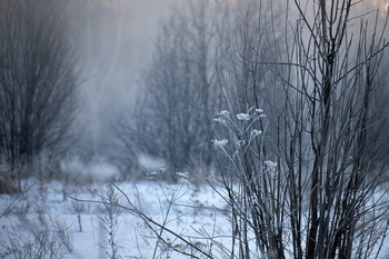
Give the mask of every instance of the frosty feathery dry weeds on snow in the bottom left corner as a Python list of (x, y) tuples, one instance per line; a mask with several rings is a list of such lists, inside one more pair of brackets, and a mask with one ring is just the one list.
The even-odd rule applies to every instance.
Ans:
[(57, 259), (72, 251), (70, 227), (50, 212), (43, 182), (31, 185), (23, 193), (28, 209), (16, 213), (17, 222), (4, 228), (8, 255), (16, 259)]

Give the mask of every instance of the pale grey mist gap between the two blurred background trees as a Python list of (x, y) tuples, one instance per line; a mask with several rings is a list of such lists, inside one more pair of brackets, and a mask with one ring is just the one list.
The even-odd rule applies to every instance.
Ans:
[[(79, 1), (70, 12), (70, 37), (82, 63), (78, 124), (81, 149), (104, 156), (118, 111), (129, 109), (149, 66), (158, 24), (172, 0)], [(104, 151), (106, 150), (106, 151)]]

